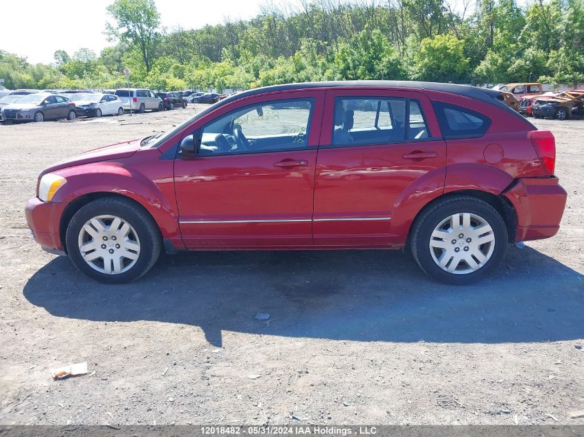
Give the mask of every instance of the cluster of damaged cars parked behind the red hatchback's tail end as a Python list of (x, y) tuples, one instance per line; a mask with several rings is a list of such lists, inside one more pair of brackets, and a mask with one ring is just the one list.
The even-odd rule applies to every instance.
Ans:
[(542, 84), (508, 84), (499, 88), (507, 106), (525, 117), (565, 120), (584, 117), (584, 90), (543, 92)]

